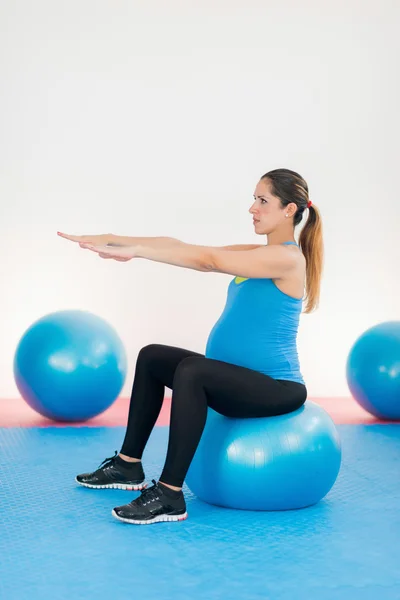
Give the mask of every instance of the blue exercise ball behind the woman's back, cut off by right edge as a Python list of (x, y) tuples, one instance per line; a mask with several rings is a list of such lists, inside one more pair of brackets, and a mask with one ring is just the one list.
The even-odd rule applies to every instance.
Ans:
[(367, 329), (352, 346), (346, 364), (353, 398), (385, 420), (400, 419), (400, 321)]

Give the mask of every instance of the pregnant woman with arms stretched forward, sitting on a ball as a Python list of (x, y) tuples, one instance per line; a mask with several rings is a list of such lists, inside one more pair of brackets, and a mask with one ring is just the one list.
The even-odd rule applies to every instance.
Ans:
[[(307, 220), (297, 244), (295, 227), (305, 211)], [(204, 430), (207, 407), (245, 419), (289, 413), (306, 400), (297, 331), (303, 300), (305, 312), (318, 304), (320, 215), (309, 199), (307, 183), (288, 169), (261, 177), (250, 214), (256, 234), (266, 236), (266, 244), (209, 247), (171, 238), (59, 233), (102, 259), (141, 258), (234, 276), (205, 355), (158, 344), (142, 348), (119, 454), (94, 472), (76, 477), (89, 488), (140, 490), (137, 499), (113, 509), (121, 521), (149, 524), (187, 518), (182, 486)], [(141, 458), (165, 387), (172, 390), (167, 456), (159, 480), (146, 487)]]

